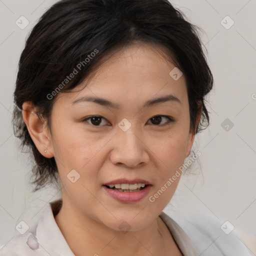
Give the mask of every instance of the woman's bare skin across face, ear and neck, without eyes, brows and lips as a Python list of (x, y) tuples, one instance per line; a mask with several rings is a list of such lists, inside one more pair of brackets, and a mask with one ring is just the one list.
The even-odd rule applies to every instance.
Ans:
[[(182, 75), (174, 80), (175, 67), (152, 46), (132, 44), (116, 52), (84, 87), (58, 93), (51, 114), (51, 132), (23, 103), (23, 118), (36, 147), (45, 157), (54, 156), (62, 186), (63, 205), (55, 216), (61, 232), (77, 255), (182, 255), (167, 227), (158, 217), (171, 199), (179, 177), (157, 198), (149, 201), (190, 153), (194, 133), (189, 130), (189, 108)], [(78, 89), (81, 89), (78, 91)], [(145, 101), (173, 94), (179, 98), (142, 108)], [(71, 102), (97, 96), (120, 104), (119, 109), (95, 102)], [(85, 117), (99, 115), (100, 125)], [(156, 115), (171, 116), (153, 121)], [(127, 131), (118, 127), (126, 118)], [(200, 113), (197, 116), (197, 123)], [(44, 153), (44, 150), (47, 150)], [(67, 174), (80, 178), (72, 183)], [(138, 202), (123, 203), (110, 197), (102, 184), (117, 178), (141, 178), (152, 186)], [(126, 221), (130, 230), (120, 232)]]

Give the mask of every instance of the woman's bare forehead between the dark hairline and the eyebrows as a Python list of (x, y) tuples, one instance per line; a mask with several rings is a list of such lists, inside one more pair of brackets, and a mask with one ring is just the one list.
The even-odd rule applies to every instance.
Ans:
[(170, 93), (181, 102), (187, 99), (184, 75), (174, 79), (170, 72), (175, 64), (150, 44), (129, 45), (102, 61), (90, 79), (64, 93), (63, 100), (70, 103), (86, 95), (115, 99), (120, 105)]

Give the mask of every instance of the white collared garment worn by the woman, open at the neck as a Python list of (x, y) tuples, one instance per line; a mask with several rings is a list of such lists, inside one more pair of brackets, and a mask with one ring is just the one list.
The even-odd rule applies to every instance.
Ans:
[[(60, 207), (61, 199), (49, 202), (44, 214), (32, 230), (16, 235), (0, 246), (0, 256), (75, 256), (54, 219)], [(208, 225), (205, 228), (205, 223), (179, 220), (184, 231), (164, 212), (161, 212), (159, 216), (170, 230), (184, 256), (251, 256), (246, 246), (239, 242), (234, 233), (225, 234), (224, 239), (223, 237), (221, 239), (211, 237), (207, 228), (214, 228), (213, 223), (207, 222)], [(98, 254), (100, 255), (99, 252)]]

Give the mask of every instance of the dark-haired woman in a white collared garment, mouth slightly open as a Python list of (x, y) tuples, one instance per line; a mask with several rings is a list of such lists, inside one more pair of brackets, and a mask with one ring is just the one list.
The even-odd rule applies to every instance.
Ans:
[(195, 26), (167, 0), (51, 6), (20, 56), (13, 124), (35, 190), (59, 183), (62, 197), (0, 255), (200, 255), (162, 209), (212, 83)]

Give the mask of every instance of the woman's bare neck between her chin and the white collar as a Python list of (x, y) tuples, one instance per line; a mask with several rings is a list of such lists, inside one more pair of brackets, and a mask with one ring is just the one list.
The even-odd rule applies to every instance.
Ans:
[(55, 215), (55, 221), (76, 256), (84, 253), (112, 255), (113, 252), (123, 256), (165, 255), (167, 249), (168, 254), (170, 253), (170, 244), (176, 248), (169, 230), (160, 217), (141, 230), (124, 233), (85, 215), (72, 201), (63, 200), (62, 207)]

